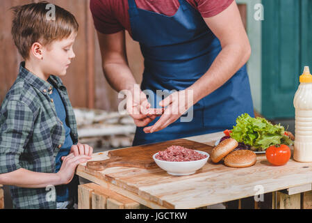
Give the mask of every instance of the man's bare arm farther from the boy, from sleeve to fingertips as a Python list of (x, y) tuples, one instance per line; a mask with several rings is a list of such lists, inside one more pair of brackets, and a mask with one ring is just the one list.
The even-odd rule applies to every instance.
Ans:
[[(215, 61), (213, 61), (211, 68), (209, 68), (197, 82), (186, 89), (186, 93), (182, 91), (181, 95), (174, 93), (160, 102), (161, 106), (167, 107), (167, 111), (175, 112), (176, 106), (172, 105), (176, 105), (174, 104), (175, 102), (179, 103), (179, 97), (186, 97), (188, 90), (191, 90), (193, 93), (194, 105), (199, 100), (206, 97), (206, 95), (220, 88), (220, 86), (227, 82), (249, 59), (251, 48), (236, 1), (233, 1), (222, 13), (213, 17), (204, 18), (204, 21), (220, 40), (222, 50), (220, 54), (217, 55)], [(188, 104), (188, 100), (185, 101), (186, 104)], [(179, 112), (172, 112), (172, 114), (165, 112), (154, 125), (146, 127), (144, 131), (146, 133), (152, 133), (166, 128), (180, 118), (189, 108), (190, 105), (179, 105)]]

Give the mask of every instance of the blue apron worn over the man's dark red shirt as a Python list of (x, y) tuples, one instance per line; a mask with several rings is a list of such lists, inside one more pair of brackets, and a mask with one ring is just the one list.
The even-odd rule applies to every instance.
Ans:
[[(171, 93), (194, 84), (220, 53), (220, 41), (202, 15), (186, 0), (179, 0), (179, 9), (173, 16), (140, 9), (135, 0), (128, 2), (132, 38), (140, 43), (145, 58), (141, 90), (151, 90), (154, 96), (149, 96), (149, 102), (159, 107), (158, 103), (164, 97), (156, 94), (156, 90)], [(254, 117), (246, 66), (197, 102), (192, 110), (190, 122), (181, 122), (179, 118), (167, 128), (151, 134), (137, 128), (133, 146), (231, 129), (243, 113)], [(154, 125), (158, 119), (147, 126)]]

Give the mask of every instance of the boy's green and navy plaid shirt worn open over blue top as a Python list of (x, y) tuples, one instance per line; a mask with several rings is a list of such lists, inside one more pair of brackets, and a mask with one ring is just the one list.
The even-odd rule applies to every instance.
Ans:
[[(19, 168), (55, 173), (56, 155), (65, 141), (63, 123), (49, 96), (51, 84), (19, 67), (19, 75), (0, 108), (0, 174)], [(59, 77), (51, 75), (67, 112), (74, 144), (78, 141), (74, 110)], [(11, 186), (14, 208), (56, 208), (51, 187), (31, 189)], [(50, 196), (51, 198), (51, 196)]]

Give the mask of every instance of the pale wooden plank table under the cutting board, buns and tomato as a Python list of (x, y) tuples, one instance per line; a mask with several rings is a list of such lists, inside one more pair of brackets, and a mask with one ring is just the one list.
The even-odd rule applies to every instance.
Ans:
[[(217, 132), (186, 139), (214, 146), (223, 135)], [(107, 153), (95, 153), (92, 160), (104, 160)], [(274, 167), (265, 154), (258, 154), (256, 164), (247, 168), (226, 167), (209, 159), (190, 176), (171, 176), (158, 167), (90, 171), (85, 163), (76, 170), (77, 175), (149, 208), (200, 208), (255, 195), (261, 198), (259, 194), (269, 192), (273, 192), (272, 208), (309, 208), (311, 173), (312, 163), (295, 162), (292, 156), (286, 165)]]

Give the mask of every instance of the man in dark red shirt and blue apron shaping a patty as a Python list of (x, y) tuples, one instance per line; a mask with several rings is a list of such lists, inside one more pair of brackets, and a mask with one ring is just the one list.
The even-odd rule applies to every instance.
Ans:
[[(132, 95), (127, 110), (138, 127), (134, 146), (222, 131), (240, 114), (254, 116), (245, 66), (251, 49), (235, 1), (91, 0), (90, 9), (105, 77), (113, 89)], [(126, 59), (125, 29), (145, 58), (139, 94)], [(145, 90), (155, 100), (148, 101)], [(162, 100), (157, 90), (176, 91)], [(159, 118), (144, 112), (160, 106), (165, 112)], [(183, 122), (190, 109), (192, 120)]]

